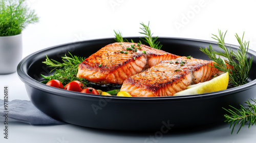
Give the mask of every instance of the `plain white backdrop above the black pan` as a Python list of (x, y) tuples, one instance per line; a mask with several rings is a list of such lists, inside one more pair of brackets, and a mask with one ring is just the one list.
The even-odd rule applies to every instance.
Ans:
[(139, 23), (148, 21), (154, 36), (213, 40), (211, 34), (220, 29), (228, 31), (227, 43), (238, 44), (234, 34), (245, 32), (250, 47), (256, 46), (255, 1), (29, 0), (28, 4), (40, 22), (23, 31), (24, 56), (62, 43), (114, 37), (113, 30), (125, 37), (143, 36)]

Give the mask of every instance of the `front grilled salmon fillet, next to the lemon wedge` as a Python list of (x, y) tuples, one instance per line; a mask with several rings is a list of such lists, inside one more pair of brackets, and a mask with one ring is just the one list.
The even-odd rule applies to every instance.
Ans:
[(133, 97), (173, 96), (190, 84), (208, 81), (218, 73), (213, 61), (180, 57), (165, 60), (123, 82), (121, 91)]

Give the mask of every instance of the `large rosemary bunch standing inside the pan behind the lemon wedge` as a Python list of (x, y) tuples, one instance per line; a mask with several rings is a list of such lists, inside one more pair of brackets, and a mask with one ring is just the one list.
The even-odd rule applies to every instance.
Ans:
[[(214, 36), (212, 38), (217, 40), (219, 47), (224, 50), (223, 53), (221, 53), (220, 51), (214, 51), (211, 44), (209, 45), (209, 50), (207, 49), (207, 47), (205, 47), (204, 49), (200, 47), (200, 50), (208, 55), (209, 58), (211, 58), (215, 62), (214, 67), (221, 71), (224, 71), (225, 73), (229, 73), (229, 81), (233, 84), (234, 87), (236, 87), (247, 83), (248, 73), (251, 68), (253, 57), (247, 60), (249, 42), (243, 42), (244, 34), (242, 39), (238, 36), (238, 34), (235, 35), (239, 42), (239, 50), (237, 52), (234, 52), (233, 50), (231, 50), (230, 46), (228, 48), (225, 44), (224, 38), (226, 33), (223, 35), (223, 32), (219, 30), (220, 37), (212, 34)], [(216, 55), (219, 56), (217, 57)], [(220, 56), (227, 58), (227, 60), (224, 60)]]

